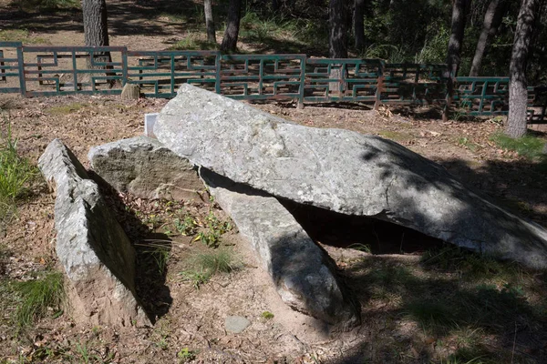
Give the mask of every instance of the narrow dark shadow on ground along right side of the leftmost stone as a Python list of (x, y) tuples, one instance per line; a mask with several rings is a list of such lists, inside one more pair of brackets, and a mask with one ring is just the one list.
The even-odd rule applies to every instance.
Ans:
[(169, 312), (173, 301), (170, 288), (166, 285), (171, 240), (167, 235), (155, 233), (144, 225), (135, 212), (126, 207), (119, 192), (102, 177), (93, 171), (88, 171), (88, 175), (97, 182), (101, 195), (135, 248), (137, 296), (154, 323)]

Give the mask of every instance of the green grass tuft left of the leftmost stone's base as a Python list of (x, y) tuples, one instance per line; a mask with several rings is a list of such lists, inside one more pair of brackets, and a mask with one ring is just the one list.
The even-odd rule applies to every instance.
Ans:
[(21, 328), (46, 316), (48, 308), (60, 311), (65, 298), (63, 275), (60, 272), (46, 272), (41, 278), (25, 282), (13, 282), (11, 288), (18, 304), (15, 322)]

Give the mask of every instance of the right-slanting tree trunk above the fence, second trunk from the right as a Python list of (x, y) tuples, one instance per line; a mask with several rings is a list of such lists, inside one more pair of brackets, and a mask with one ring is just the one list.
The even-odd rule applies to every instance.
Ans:
[(477, 48), (475, 50), (475, 56), (473, 57), (473, 63), (471, 65), (471, 77), (479, 76), (482, 58), (486, 53), (486, 49), (490, 45), (491, 39), (494, 35), (496, 35), (498, 32), (498, 27), (501, 25), (502, 15), (505, 10), (505, 5), (502, 3), (503, 0), (490, 0), (488, 9), (484, 15), (482, 32), (480, 32), (479, 41), (477, 42)]

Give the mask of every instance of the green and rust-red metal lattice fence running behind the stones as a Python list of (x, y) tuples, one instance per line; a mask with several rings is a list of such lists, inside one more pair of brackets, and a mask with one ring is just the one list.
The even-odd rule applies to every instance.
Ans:
[[(218, 51), (129, 51), (123, 46), (26, 46), (0, 42), (0, 93), (23, 96), (121, 94), (174, 97), (183, 83), (241, 100), (435, 105), (444, 116), (506, 115), (508, 77), (449, 79), (446, 65), (305, 55), (222, 55)], [(450, 87), (449, 87), (450, 86)], [(452, 95), (449, 95), (452, 90)], [(529, 87), (529, 122), (547, 123), (547, 86)]]

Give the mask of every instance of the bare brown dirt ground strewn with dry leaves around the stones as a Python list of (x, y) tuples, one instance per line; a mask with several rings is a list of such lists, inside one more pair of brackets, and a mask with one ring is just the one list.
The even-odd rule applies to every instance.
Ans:
[[(3, 6), (2, 29), (24, 27), (33, 44), (83, 43), (77, 12), (28, 14), (5, 2)], [(163, 15), (147, 16), (153, 2), (113, 0), (108, 6), (111, 45), (165, 49), (187, 31), (184, 23), (173, 23)], [(51, 27), (51, 23), (57, 26)], [(85, 167), (90, 147), (141, 135), (144, 114), (160, 111), (166, 102), (126, 101), (118, 96), (0, 96), (4, 118), (18, 139), (22, 157), (36, 163), (57, 137)], [(490, 141), (493, 133), (502, 130), (501, 118), (442, 122), (426, 109), (384, 108), (376, 112), (359, 105), (306, 106), (303, 110), (291, 103), (255, 106), (305, 126), (346, 128), (392, 139), (438, 162), (502, 206), (547, 227), (545, 171)], [(540, 126), (531, 129), (546, 137)], [(228, 220), (207, 198), (173, 204), (107, 196), (138, 250), (139, 244), (157, 234), (169, 237), (169, 260), (160, 273), (153, 271), (146, 248), (139, 250), (139, 295), (156, 316), (154, 327), (83, 327), (67, 312), (57, 319), (40, 320), (16, 336), (8, 320), (10, 312), (4, 312), (0, 362), (547, 362), (547, 278), (542, 272), (511, 266), (521, 279), (518, 287), (513, 286), (525, 292), (524, 300), (513, 300), (508, 296), (514, 288), (512, 278), (501, 277), (501, 268), (486, 269), (478, 286), (477, 281), (465, 279), (461, 268), (431, 269), (421, 264), (420, 258), (430, 246), (407, 248), (401, 242), (397, 249), (375, 251), (377, 241), (366, 237), (359, 243), (371, 246), (371, 252), (325, 245), (363, 310), (362, 326), (329, 333), (321, 322), (283, 304), (236, 228), (222, 236), (221, 246), (235, 252), (241, 262), (239, 269), (217, 275), (199, 289), (182, 278), (188, 258), (209, 248), (190, 237), (171, 235), (167, 229), (181, 210), (198, 218), (212, 211), (219, 219)], [(46, 184), (37, 178), (32, 194), (0, 231), (1, 245), (8, 252), (0, 269), (2, 279), (25, 280), (35, 271), (58, 268), (54, 202)], [(124, 215), (128, 210), (136, 218)], [(457, 304), (479, 302), (481, 308), (493, 300), (508, 308), (492, 310), (489, 319), (470, 312), (446, 314), (449, 319), (444, 322), (439, 315), (439, 321), (432, 324), (433, 312), (420, 317), (415, 308), (439, 297)], [(467, 300), (459, 301), (461, 297)], [(462, 312), (474, 309), (472, 304), (462, 308), (447, 303), (447, 307), (461, 308)], [(266, 319), (264, 312), (274, 317)], [(244, 316), (252, 324), (242, 334), (231, 334), (224, 329), (229, 315)]]

